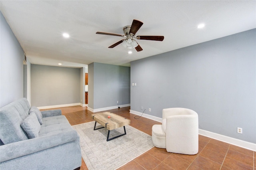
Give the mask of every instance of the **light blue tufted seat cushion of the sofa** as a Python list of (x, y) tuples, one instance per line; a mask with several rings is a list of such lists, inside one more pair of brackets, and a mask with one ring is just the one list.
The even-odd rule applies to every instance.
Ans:
[(39, 137), (72, 129), (68, 119), (64, 115), (43, 117), (42, 121)]

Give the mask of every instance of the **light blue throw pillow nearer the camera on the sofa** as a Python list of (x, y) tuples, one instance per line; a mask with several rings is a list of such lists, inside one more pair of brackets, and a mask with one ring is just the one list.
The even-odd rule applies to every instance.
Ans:
[(36, 113), (30, 113), (20, 125), (23, 130), (28, 134), (29, 138), (37, 138), (40, 132), (40, 123), (36, 117)]

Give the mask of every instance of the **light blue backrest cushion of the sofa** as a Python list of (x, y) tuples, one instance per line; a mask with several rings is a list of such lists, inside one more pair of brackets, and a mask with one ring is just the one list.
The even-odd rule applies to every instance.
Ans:
[(26, 98), (18, 99), (0, 109), (0, 139), (4, 144), (28, 139), (20, 126), (30, 110)]

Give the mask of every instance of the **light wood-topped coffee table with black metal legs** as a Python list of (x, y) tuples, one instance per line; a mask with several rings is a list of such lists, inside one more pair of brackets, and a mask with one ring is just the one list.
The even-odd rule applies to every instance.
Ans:
[[(110, 118), (108, 118), (108, 116), (110, 116)], [(107, 141), (113, 140), (115, 138), (118, 138), (120, 136), (125, 135), (126, 130), (125, 130), (124, 126), (125, 125), (130, 125), (130, 123), (131, 123), (130, 119), (126, 119), (122, 116), (116, 115), (116, 114), (111, 113), (111, 112), (97, 113), (97, 114), (91, 115), (91, 117), (95, 121), (95, 125), (94, 125), (93, 130), (98, 130), (100, 128), (107, 128), (108, 129)], [(103, 127), (95, 128), (97, 122), (100, 125), (102, 125)], [(115, 136), (113, 138), (109, 138), (110, 130), (120, 128), (120, 127), (124, 127), (124, 134), (120, 134), (120, 135)]]

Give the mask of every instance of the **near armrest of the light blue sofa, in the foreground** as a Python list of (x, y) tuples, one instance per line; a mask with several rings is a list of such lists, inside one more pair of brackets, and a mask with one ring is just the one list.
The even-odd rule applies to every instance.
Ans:
[(25, 156), (54, 146), (79, 140), (76, 130), (71, 129), (55, 134), (22, 140), (0, 146), (0, 162)]

